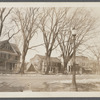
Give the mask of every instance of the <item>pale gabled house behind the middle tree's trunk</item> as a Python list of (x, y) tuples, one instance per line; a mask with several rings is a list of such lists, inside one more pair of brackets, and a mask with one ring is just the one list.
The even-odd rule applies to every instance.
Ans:
[[(34, 67), (34, 68), (32, 68)], [(57, 57), (50, 57), (50, 73), (59, 73), (61, 69), (61, 61)], [(38, 73), (45, 73), (47, 70), (46, 56), (35, 55), (27, 65), (26, 71), (35, 71)]]

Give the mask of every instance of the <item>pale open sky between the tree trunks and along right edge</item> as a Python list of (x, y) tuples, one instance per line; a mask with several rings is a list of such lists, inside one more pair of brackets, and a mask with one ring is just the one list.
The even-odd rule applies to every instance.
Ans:
[[(97, 20), (99, 22), (100, 21), (100, 19), (99, 19), (100, 18), (100, 10), (98, 8), (92, 8), (92, 13), (93, 13), (94, 16), (97, 16), (98, 17)], [(99, 28), (97, 29), (97, 31), (99, 33), (97, 33), (96, 35), (94, 35), (94, 39), (87, 42), (89, 45), (91, 45), (91, 43), (93, 43), (93, 41), (95, 41), (97, 44), (100, 44), (100, 30), (99, 30)], [(43, 43), (43, 36), (42, 36), (42, 34), (38, 34), (38, 36), (34, 37), (32, 43), (34, 43), (34, 45), (37, 45), (39, 43)], [(83, 50), (84, 49), (85, 48), (83, 47)], [(35, 50), (29, 50), (28, 53), (27, 53), (27, 56), (26, 56), (26, 61), (29, 61), (30, 58), (32, 58), (32, 57), (35, 56), (35, 54), (45, 55), (45, 52), (46, 51), (45, 51), (44, 46), (37, 47), (36, 48), (36, 51)], [(61, 55), (61, 52), (60, 51), (57, 51), (57, 50), (54, 50), (52, 52), (52, 54), (51, 54), (51, 56), (53, 56), (53, 57), (58, 57), (60, 55)], [(88, 56), (88, 57), (93, 57), (93, 55), (91, 55), (91, 53), (89, 51), (83, 52), (82, 55)]]

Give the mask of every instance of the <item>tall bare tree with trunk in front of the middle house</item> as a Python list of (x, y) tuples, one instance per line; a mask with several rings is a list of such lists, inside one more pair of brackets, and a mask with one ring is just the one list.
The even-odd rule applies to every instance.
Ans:
[(62, 31), (63, 27), (66, 25), (65, 16), (67, 10), (63, 8), (43, 8), (42, 19), (40, 23), (40, 30), (43, 34), (45, 49), (46, 49), (46, 60), (47, 60), (47, 70), (45, 74), (49, 73), (50, 69), (50, 56), (52, 50), (54, 49), (54, 44), (57, 35)]

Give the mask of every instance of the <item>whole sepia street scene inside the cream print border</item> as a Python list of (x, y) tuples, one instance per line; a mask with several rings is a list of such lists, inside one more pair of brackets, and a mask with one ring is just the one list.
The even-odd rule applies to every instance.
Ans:
[(0, 7), (0, 92), (100, 92), (100, 7)]

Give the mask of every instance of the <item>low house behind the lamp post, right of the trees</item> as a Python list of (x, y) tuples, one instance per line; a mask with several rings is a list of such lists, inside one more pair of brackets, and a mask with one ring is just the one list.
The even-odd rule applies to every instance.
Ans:
[[(95, 62), (90, 60), (85, 56), (76, 56), (76, 73), (77, 74), (89, 74), (93, 73), (93, 69), (95, 67)], [(73, 59), (71, 59), (67, 65), (67, 73), (72, 73), (73, 70)]]

